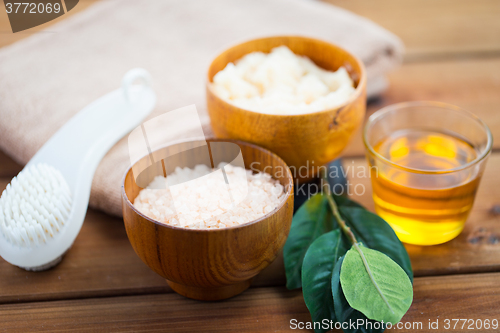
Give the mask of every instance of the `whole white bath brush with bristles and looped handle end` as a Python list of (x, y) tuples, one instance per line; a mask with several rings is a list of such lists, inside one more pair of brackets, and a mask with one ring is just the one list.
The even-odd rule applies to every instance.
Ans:
[(82, 226), (99, 162), (155, 102), (150, 75), (133, 69), (121, 89), (81, 110), (43, 145), (0, 197), (2, 258), (26, 270), (61, 261)]

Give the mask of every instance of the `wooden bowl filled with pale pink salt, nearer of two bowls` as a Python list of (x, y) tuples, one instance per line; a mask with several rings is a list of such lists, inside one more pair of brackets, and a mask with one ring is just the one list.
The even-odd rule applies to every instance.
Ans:
[(134, 163), (122, 201), (128, 238), (144, 263), (181, 295), (221, 300), (246, 290), (283, 248), (293, 181), (264, 148), (189, 141)]

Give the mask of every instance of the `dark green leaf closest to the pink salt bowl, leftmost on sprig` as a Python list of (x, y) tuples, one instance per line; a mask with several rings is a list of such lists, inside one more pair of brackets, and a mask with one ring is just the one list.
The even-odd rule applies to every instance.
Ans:
[(333, 230), (336, 225), (328, 199), (322, 194), (312, 196), (297, 210), (283, 249), (288, 289), (302, 286), (302, 262), (307, 249), (319, 236)]

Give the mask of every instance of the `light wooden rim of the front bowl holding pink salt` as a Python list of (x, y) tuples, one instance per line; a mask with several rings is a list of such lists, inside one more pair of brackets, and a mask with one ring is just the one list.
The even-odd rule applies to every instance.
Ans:
[[(200, 140), (202, 141), (203, 139), (200, 139)], [(156, 149), (155, 152), (158, 151), (158, 150), (160, 150), (160, 149), (164, 149), (164, 148), (167, 148), (167, 147), (170, 147), (170, 146), (173, 146), (173, 145), (182, 144), (182, 143), (188, 143), (188, 142), (195, 142), (195, 141), (200, 141), (200, 140), (192, 140), (192, 139), (178, 140), (178, 141), (175, 141), (175, 142), (172, 142), (172, 143), (168, 143), (168, 144), (166, 144), (166, 145), (164, 145), (164, 146)], [(283, 162), (283, 164), (285, 166), (285, 169), (286, 169), (286, 180), (288, 182), (287, 185), (289, 185), (288, 186), (288, 194), (287, 194), (287, 196), (284, 197), (283, 200), (278, 204), (278, 206), (275, 209), (273, 209), (272, 211), (270, 211), (269, 213), (267, 213), (267, 214), (259, 217), (258, 219), (255, 219), (253, 221), (250, 221), (250, 222), (247, 222), (247, 223), (243, 223), (243, 224), (240, 224), (240, 225), (226, 227), (226, 228), (214, 228), (214, 229), (194, 229), (194, 228), (191, 229), (191, 228), (182, 228), (182, 227), (171, 226), (171, 225), (162, 223), (160, 221), (156, 221), (156, 220), (154, 220), (154, 219), (152, 219), (152, 218), (150, 218), (150, 217), (142, 214), (137, 208), (135, 208), (135, 206), (132, 204), (132, 202), (130, 202), (130, 200), (129, 200), (128, 196), (127, 196), (127, 193), (125, 192), (125, 179), (127, 178), (127, 175), (129, 174), (129, 172), (132, 170), (132, 167), (145, 157), (145, 156), (143, 156), (143, 157), (139, 158), (137, 161), (135, 161), (127, 169), (127, 171), (125, 171), (125, 175), (122, 178), (122, 186), (121, 186), (122, 202), (124, 204), (126, 204), (130, 209), (132, 209), (132, 211), (135, 214), (137, 214), (139, 217), (141, 217), (142, 219), (147, 220), (147, 221), (152, 222), (152, 223), (155, 223), (155, 224), (160, 225), (161, 227), (165, 227), (167, 229), (183, 230), (183, 231), (186, 231), (186, 232), (194, 232), (194, 233), (209, 233), (209, 232), (210, 233), (216, 233), (216, 232), (225, 232), (226, 230), (244, 228), (244, 227), (248, 227), (250, 225), (262, 222), (262, 221), (268, 219), (269, 217), (271, 217), (272, 215), (278, 213), (278, 211), (280, 211), (283, 208), (283, 206), (287, 203), (287, 201), (290, 198), (290, 196), (293, 196), (294, 186), (293, 186), (292, 173), (290, 172), (290, 168), (288, 167), (288, 164), (286, 164), (286, 162), (281, 157), (279, 157), (277, 154), (273, 153), (272, 151), (270, 151), (268, 149), (262, 148), (262, 147), (260, 147), (260, 146), (258, 146), (256, 144), (249, 143), (249, 142), (242, 141), (242, 140), (207, 138), (206, 141), (207, 142), (210, 142), (210, 141), (233, 142), (233, 143), (236, 143), (236, 144), (247, 145), (247, 146), (249, 146), (252, 149), (261, 150), (262, 152), (269, 154), (271, 156), (271, 158), (273, 158), (273, 159), (276, 159), (278, 161)], [(286, 190), (287, 186), (284, 186), (284, 188)], [(123, 218), (125, 218), (125, 216)]]

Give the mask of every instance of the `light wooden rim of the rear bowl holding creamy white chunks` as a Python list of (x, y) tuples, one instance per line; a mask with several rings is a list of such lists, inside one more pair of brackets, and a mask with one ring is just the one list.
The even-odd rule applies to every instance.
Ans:
[[(243, 44), (247, 44), (247, 43), (254, 42), (254, 41), (260, 41), (260, 40), (266, 40), (266, 39), (280, 39), (280, 38), (296, 38), (296, 39), (308, 40), (308, 41), (311, 41), (311, 42), (314, 42), (314, 43), (325, 43), (325, 44), (333, 46), (334, 48), (340, 49), (340, 50), (344, 51), (345, 53), (349, 54), (354, 59), (354, 61), (357, 63), (357, 65), (359, 66), (359, 69), (360, 69), (360, 78), (359, 78), (359, 82), (358, 82), (358, 84), (357, 84), (357, 86), (356, 86), (356, 88), (354, 90), (354, 93), (349, 97), (349, 99), (347, 101), (345, 101), (344, 103), (336, 106), (335, 108), (331, 108), (331, 109), (324, 109), (324, 110), (320, 110), (320, 111), (314, 111), (314, 112), (308, 112), (308, 113), (299, 113), (299, 114), (262, 113), (262, 112), (258, 112), (258, 111), (253, 111), (253, 110), (249, 110), (249, 109), (240, 108), (240, 107), (238, 107), (238, 106), (236, 106), (236, 105), (234, 105), (232, 103), (229, 103), (226, 100), (220, 98), (219, 95), (217, 95), (217, 93), (213, 90), (212, 80), (210, 79), (210, 71), (207, 70), (207, 76), (206, 76), (206, 83), (205, 83), (205, 85), (206, 85), (207, 89), (210, 91), (210, 93), (212, 94), (212, 96), (214, 98), (216, 98), (218, 101), (220, 101), (220, 102), (222, 102), (222, 103), (224, 103), (226, 105), (229, 105), (232, 108), (241, 110), (243, 112), (252, 112), (252, 113), (257, 113), (257, 114), (263, 114), (263, 115), (266, 115), (266, 116), (269, 116), (269, 117), (284, 118), (284, 117), (304, 117), (304, 116), (308, 116), (308, 115), (312, 115), (312, 114), (332, 112), (332, 111), (341, 109), (341, 108), (345, 107), (346, 105), (349, 105), (349, 104), (353, 103), (363, 93), (363, 87), (366, 85), (366, 69), (365, 69), (365, 65), (363, 64), (363, 62), (357, 56), (355, 56), (354, 54), (352, 54), (352, 52), (347, 51), (345, 48), (340, 47), (337, 44), (327, 42), (327, 41), (325, 41), (323, 39), (313, 38), (313, 37), (308, 37), (308, 36), (301, 36), (301, 35), (276, 35), (276, 36), (267, 36), (267, 37), (261, 37), (261, 38), (247, 39), (245, 41), (239, 42), (237, 44), (234, 44), (234, 45), (232, 45), (232, 46), (224, 49), (222, 52), (219, 52), (217, 54), (217, 56), (215, 56), (212, 59), (212, 61), (210, 62), (210, 65), (208, 66), (208, 69), (210, 69), (212, 67), (212, 65), (215, 62), (215, 60), (222, 53), (227, 52), (230, 49), (233, 49), (233, 48), (239, 47), (239, 46), (241, 46)], [(253, 52), (257, 52), (257, 51), (258, 50), (255, 50)], [(320, 66), (318, 66), (318, 67), (320, 67)]]

